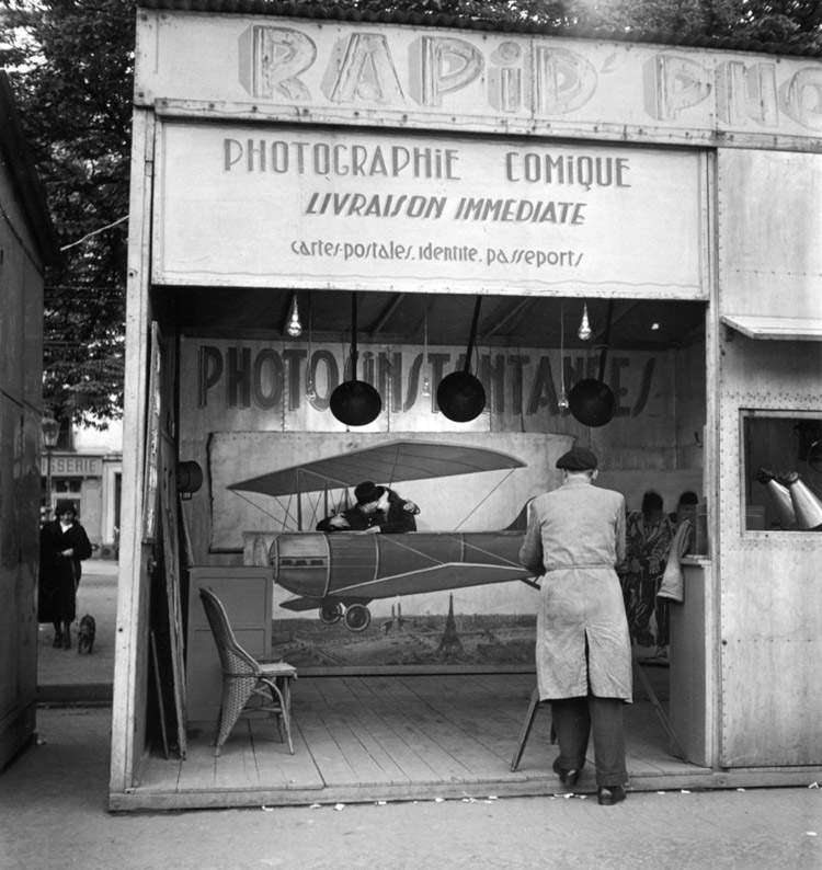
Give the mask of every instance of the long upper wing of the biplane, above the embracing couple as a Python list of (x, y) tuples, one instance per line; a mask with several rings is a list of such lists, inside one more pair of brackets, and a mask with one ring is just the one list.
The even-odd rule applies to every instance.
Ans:
[(523, 467), (525, 462), (522, 460), (498, 450), (397, 440), (278, 469), (232, 483), (228, 489), (276, 496), (316, 492), (329, 486), (355, 486), (363, 480), (393, 483)]

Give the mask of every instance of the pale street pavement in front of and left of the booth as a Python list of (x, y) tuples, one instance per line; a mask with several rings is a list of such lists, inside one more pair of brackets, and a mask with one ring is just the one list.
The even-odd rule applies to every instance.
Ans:
[(100, 646), (80, 656), (52, 650), (48, 628), (41, 639), (41, 689), (53, 700), (38, 707), (37, 741), (0, 774), (0, 870), (822, 868), (817, 783), (636, 793), (617, 806), (488, 795), (112, 814), (111, 708), (100, 697), (70, 702), (113, 674), (115, 568), (87, 565), (79, 615), (94, 608)]

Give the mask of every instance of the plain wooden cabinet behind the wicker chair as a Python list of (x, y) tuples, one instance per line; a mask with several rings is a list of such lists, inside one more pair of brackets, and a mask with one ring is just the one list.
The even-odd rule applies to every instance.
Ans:
[(190, 723), (214, 724), (220, 708), (222, 677), (217, 646), (199, 589), (207, 586), (222, 602), (240, 644), (255, 657), (271, 654), (272, 588), (269, 568), (192, 568), (189, 586), (186, 705)]

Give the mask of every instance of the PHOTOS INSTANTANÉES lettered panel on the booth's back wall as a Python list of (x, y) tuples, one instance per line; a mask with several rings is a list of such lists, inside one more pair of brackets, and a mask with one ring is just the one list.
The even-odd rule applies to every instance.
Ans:
[[(552, 431), (569, 419), (559, 407), (563, 390), (595, 377), (598, 353), (518, 347), (478, 348), (475, 371), (486, 389), (486, 411), (470, 423), (452, 423), (439, 412), (436, 388), (461, 370), (464, 350), (442, 345), (361, 344), (359, 376), (383, 397), (383, 412), (357, 431), (518, 432), (546, 424)], [(265, 342), (190, 339), (181, 344), (181, 393), (185, 424), (202, 436), (213, 430), (269, 428), (274, 420), (290, 432), (344, 432), (329, 410), (329, 398), (344, 379), (344, 347), (302, 341)], [(614, 351), (606, 369), (616, 399), (615, 423), (666, 416), (673, 389), (664, 354)], [(184, 425), (185, 425), (184, 424)]]

